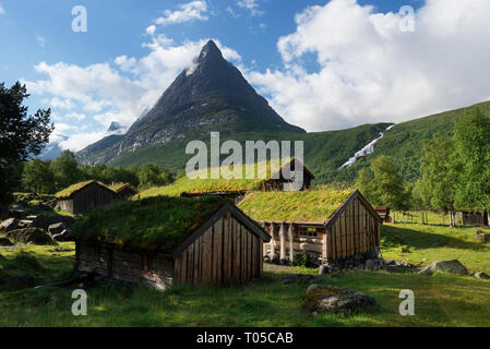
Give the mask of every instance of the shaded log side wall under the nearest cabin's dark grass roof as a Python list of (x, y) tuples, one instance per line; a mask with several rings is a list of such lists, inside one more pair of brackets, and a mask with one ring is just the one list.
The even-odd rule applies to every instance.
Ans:
[(174, 262), (166, 254), (77, 242), (76, 266), (79, 272), (159, 290), (174, 285)]

